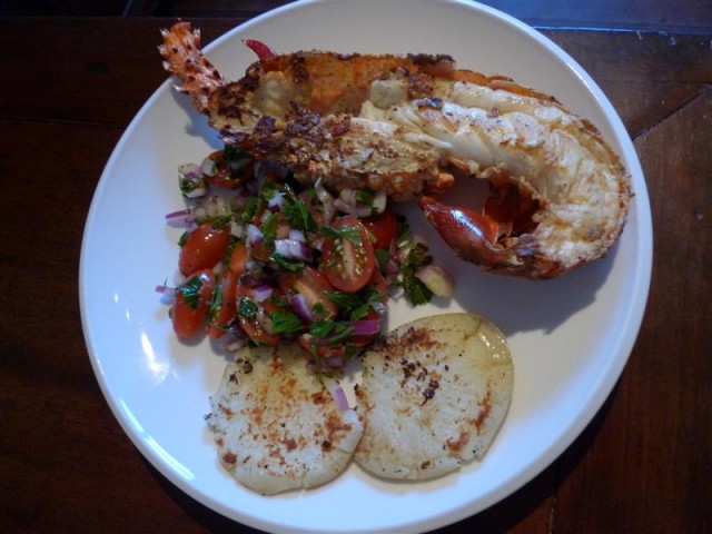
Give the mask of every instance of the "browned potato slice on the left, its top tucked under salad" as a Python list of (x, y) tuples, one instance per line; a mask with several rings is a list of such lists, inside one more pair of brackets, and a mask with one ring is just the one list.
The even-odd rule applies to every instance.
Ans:
[(332, 481), (363, 433), (356, 412), (338, 408), (297, 344), (243, 349), (210, 404), (221, 464), (265, 495)]

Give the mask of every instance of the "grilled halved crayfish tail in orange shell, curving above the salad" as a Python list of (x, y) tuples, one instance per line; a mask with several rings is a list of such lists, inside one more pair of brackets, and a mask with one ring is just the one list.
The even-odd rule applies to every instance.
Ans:
[(227, 81), (190, 24), (162, 36), (165, 68), (225, 141), (303, 182), (413, 200), (447, 190), (455, 172), (487, 180), (491, 207), (501, 206), (484, 219), (422, 201), (443, 238), (484, 270), (552, 278), (605, 256), (623, 230), (630, 177), (596, 128), (548, 95), (442, 55), (267, 50)]

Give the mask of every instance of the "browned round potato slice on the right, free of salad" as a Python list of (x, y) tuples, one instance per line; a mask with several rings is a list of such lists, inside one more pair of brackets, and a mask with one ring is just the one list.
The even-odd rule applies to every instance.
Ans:
[(425, 317), (363, 355), (366, 419), (356, 463), (384, 478), (428, 479), (482, 459), (508, 411), (514, 368), (502, 333), (473, 314)]

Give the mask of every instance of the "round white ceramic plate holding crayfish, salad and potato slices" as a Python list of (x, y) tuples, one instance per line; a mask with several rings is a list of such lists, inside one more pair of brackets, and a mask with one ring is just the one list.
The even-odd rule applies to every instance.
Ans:
[[(83, 238), (82, 323), (108, 403), (136, 446), (172, 483), (217, 512), (265, 531), (427, 531), (484, 510), (543, 471), (589, 424), (637, 335), (650, 283), (652, 228), (644, 178), (621, 120), (594, 81), (555, 44), (473, 3), (290, 4), (208, 48), (228, 77), (238, 77), (254, 60), (243, 38), (261, 39), (280, 51), (449, 53), (463, 68), (507, 75), (555, 95), (597, 125), (621, 154), (635, 190), (627, 226), (606, 259), (561, 279), (532, 283), (478, 274), (436, 245), (436, 236), (409, 211), (412, 225), (434, 244), (436, 260), (457, 279), (447, 309), (483, 314), (510, 339), (515, 390), (501, 433), (482, 463), (437, 481), (386, 483), (352, 466), (322, 488), (261, 497), (222, 471), (204, 422), (225, 359), (208, 342), (178, 343), (167, 307), (154, 293), (177, 265), (180, 230), (164, 221), (165, 214), (182, 206), (176, 169), (219, 146), (206, 120), (166, 82), (111, 156)], [(389, 326), (442, 313), (445, 306), (411, 310), (395, 304)]]

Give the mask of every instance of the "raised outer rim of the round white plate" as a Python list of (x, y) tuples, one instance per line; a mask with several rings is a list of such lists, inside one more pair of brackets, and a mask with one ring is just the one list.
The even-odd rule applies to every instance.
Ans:
[[(328, 2), (326, 0), (301, 0), (294, 3), (281, 6), (271, 11), (265, 12), (254, 19), (250, 19), (241, 24), (238, 24), (231, 28), (224, 34), (217, 37), (212, 42), (210, 42), (205, 48), (205, 51), (209, 53), (212, 48), (219, 47), (224, 41), (227, 41), (234, 38), (234, 34), (236, 32), (243, 32), (245, 30), (249, 30), (251, 26), (259, 24), (264, 19), (277, 17), (277, 16), (284, 16), (288, 11), (301, 9), (305, 6), (322, 4), (322, 3), (333, 3), (333, 2)], [(616, 347), (621, 347), (621, 352), (625, 355), (625, 357), (615, 358), (611, 360), (612, 369), (604, 375), (609, 383), (603, 385), (603, 387), (595, 388), (594, 390), (595, 394), (593, 396), (594, 400), (587, 403), (586, 409), (584, 413), (577, 414), (578, 416), (576, 417), (575, 423), (573, 424), (573, 426), (570, 427), (570, 432), (565, 434), (565, 437), (560, 439), (552, 447), (547, 448), (547, 451), (542, 456), (542, 458), (540, 458), (540, 462), (531, 462), (527, 465), (527, 467), (523, 469), (522, 473), (520, 473), (518, 481), (516, 483), (501, 484), (498, 491), (491, 492), (490, 494), (487, 494), (485, 498), (479, 501), (482, 505), (477, 506), (478, 510), (473, 511), (472, 506), (469, 505), (463, 506), (461, 508), (451, 511), (451, 513), (447, 515), (447, 518), (444, 518), (443, 516), (438, 516), (438, 517), (434, 517), (429, 522), (431, 524), (428, 525), (425, 525), (424, 522), (421, 522), (417, 525), (412, 525), (412, 524), (404, 525), (403, 528), (398, 528), (393, 532), (414, 532), (412, 531), (414, 526), (418, 528), (422, 526), (427, 526), (427, 528), (435, 528), (438, 526), (452, 524), (457, 521), (462, 521), (463, 518), (468, 517), (474, 513), (479, 513), (488, 508), (493, 504), (514, 494), (523, 485), (531, 482), (537, 474), (540, 474), (543, 469), (550, 466), (581, 435), (581, 433), (585, 429), (585, 427), (587, 427), (591, 424), (591, 421), (594, 418), (596, 413), (601, 409), (606, 398), (610, 396), (611, 392), (613, 390), (615, 384), (620, 380), (622, 372), (625, 365), (627, 364), (633, 346), (640, 333), (642, 320), (644, 318), (644, 310), (647, 303), (651, 274), (652, 274), (653, 228), (652, 228), (652, 215), (650, 210), (650, 200), (647, 198), (647, 189), (644, 186), (644, 175), (640, 166), (637, 155), (633, 150), (632, 140), (629, 137), (626, 137), (625, 139), (622, 139), (621, 136), (617, 135), (626, 131), (620, 116), (615, 111), (615, 108), (612, 106), (612, 103), (609, 101), (607, 97), (595, 83), (595, 81), (572, 57), (570, 57), (555, 42), (553, 42), (546, 36), (537, 32), (533, 28), (524, 24), (522, 21), (508, 16), (507, 13), (498, 11), (488, 6), (479, 4), (476, 2), (465, 2), (464, 0), (439, 0), (439, 3), (465, 6), (466, 8), (472, 9), (473, 11), (479, 10), (479, 11), (487, 12), (490, 16), (496, 17), (503, 20), (504, 22), (506, 22), (507, 24), (515, 26), (518, 31), (524, 31), (530, 37), (533, 37), (541, 44), (543, 44), (547, 50), (550, 51), (553, 50), (556, 53), (556, 56), (563, 60), (563, 62), (567, 66), (567, 68), (570, 68), (577, 77), (584, 79), (585, 85), (587, 86), (589, 90), (592, 92), (592, 96), (595, 98), (599, 106), (602, 106), (602, 108), (604, 108), (604, 110), (606, 111), (606, 116), (609, 120), (612, 122), (616, 131), (616, 137), (623, 144), (622, 149), (624, 149), (625, 151), (624, 159), (626, 160), (626, 164), (629, 166), (629, 169), (627, 169), (629, 174), (631, 174), (632, 176), (640, 176), (643, 180), (643, 187), (635, 189), (635, 195), (637, 197), (635, 201), (635, 209), (637, 209), (637, 211), (635, 215), (636, 215), (636, 220), (639, 222), (639, 228), (643, 230), (645, 230), (646, 228), (649, 229), (647, 235), (650, 236), (650, 239), (647, 240), (639, 239), (635, 243), (637, 255), (642, 255), (643, 259), (641, 260), (641, 264), (643, 265), (644, 269), (642, 273), (640, 273), (640, 276), (635, 278), (637, 289), (633, 291), (633, 295), (637, 296), (637, 298), (634, 301), (634, 306), (630, 307), (627, 313), (627, 318), (632, 323), (629, 323), (627, 329), (620, 332), (615, 343)], [(106, 376), (103, 375), (103, 372), (100, 366), (100, 362), (99, 362), (100, 358), (95, 354), (95, 348), (93, 348), (95, 344), (92, 343), (92, 336), (89, 329), (89, 318), (86, 315), (87, 303), (85, 301), (86, 295), (87, 295), (87, 269), (89, 268), (87, 264), (89, 260), (87, 248), (89, 246), (89, 243), (91, 241), (92, 233), (93, 233), (90, 221), (95, 220), (95, 217), (97, 217), (98, 199), (102, 196), (103, 190), (107, 188), (109, 176), (111, 174), (110, 171), (115, 167), (116, 160), (119, 158), (121, 151), (125, 149), (125, 146), (127, 145), (128, 140), (131, 138), (135, 130), (139, 127), (141, 120), (146, 117), (148, 110), (155, 105), (157, 99), (159, 99), (167, 90), (169, 90), (168, 89), (169, 86), (170, 86), (170, 80), (167, 79), (151, 93), (151, 96), (146, 100), (146, 102), (141, 106), (139, 111), (136, 113), (136, 116), (131, 119), (125, 132), (121, 135), (119, 141), (113, 148), (111, 156), (109, 157), (105, 166), (101, 177), (99, 178), (97, 188), (95, 190), (95, 194), (91, 200), (89, 212), (87, 215), (87, 221), (86, 221), (86, 226), (82, 235), (81, 250), (80, 250), (79, 304), (80, 304), (82, 332), (85, 335), (85, 340), (86, 340), (87, 349), (89, 353), (89, 359), (90, 359), (92, 369), (95, 372), (95, 376), (97, 377), (97, 382), (100, 385), (102, 395), (107, 400), (107, 403), (109, 404), (116, 419), (119, 422), (123, 433), (127, 434), (127, 436), (131, 439), (131, 442), (139, 449), (142, 456), (146, 459), (148, 459), (150, 464), (154, 467), (156, 467), (157, 471), (162, 476), (167, 477), (174, 485), (176, 485), (179, 490), (181, 490), (192, 498), (196, 498), (198, 502), (202, 503), (209, 508), (234, 521), (238, 521), (240, 523), (244, 523), (246, 525), (254, 526), (257, 528), (266, 528), (266, 530), (269, 530), (270, 532), (287, 532), (285, 530), (285, 525), (276, 524), (276, 523), (271, 524), (269, 522), (266, 522), (264, 518), (253, 517), (249, 514), (241, 511), (236, 513), (236, 511), (234, 510), (225, 508), (225, 506), (222, 506), (221, 503), (214, 500), (210, 495), (205, 495), (201, 492), (195, 492), (195, 490), (191, 486), (186, 484), (186, 481), (184, 478), (176, 475), (174, 469), (171, 469), (169, 466), (166, 466), (166, 464), (161, 462), (160, 458), (157, 458), (154, 452), (146, 445), (145, 441), (141, 439), (139, 436), (136, 436), (135, 428), (130, 426), (129, 423), (126, 421), (125, 412), (122, 412), (122, 408), (117, 404), (116, 399), (111, 395), (111, 392), (109, 390), (108, 383), (106, 382)], [(612, 113), (610, 111), (612, 111)], [(634, 168), (630, 168), (631, 165), (633, 165)], [(643, 209), (640, 209), (641, 206)], [(544, 464), (544, 467), (540, 466), (541, 463)], [(307, 531), (289, 530), (288, 532), (307, 532)], [(309, 531), (309, 532), (315, 532), (315, 531)]]

